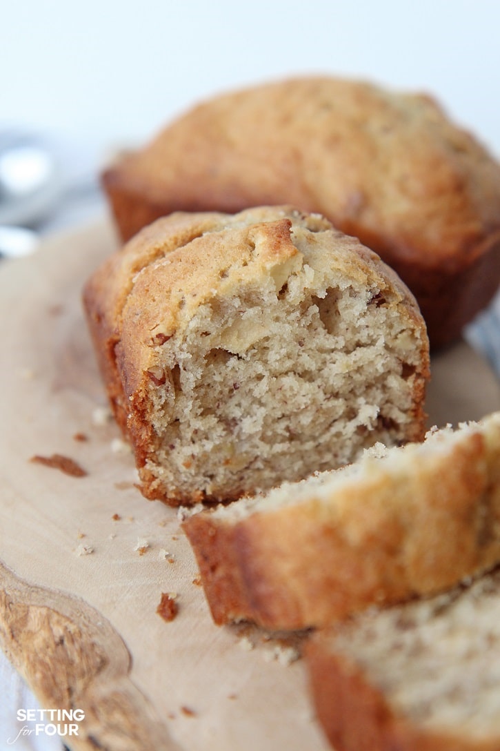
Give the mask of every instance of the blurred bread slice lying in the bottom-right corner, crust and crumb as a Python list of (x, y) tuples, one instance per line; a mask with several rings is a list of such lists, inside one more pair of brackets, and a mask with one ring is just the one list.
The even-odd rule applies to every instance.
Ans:
[(374, 608), (306, 645), (319, 722), (336, 751), (498, 751), (499, 650), (499, 569)]

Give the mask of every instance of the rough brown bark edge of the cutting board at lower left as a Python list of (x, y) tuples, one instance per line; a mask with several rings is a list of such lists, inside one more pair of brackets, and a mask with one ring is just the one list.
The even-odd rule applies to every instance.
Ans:
[(1, 564), (0, 645), (44, 707), (83, 710), (72, 748), (178, 748), (130, 680), (131, 656), (109, 621)]

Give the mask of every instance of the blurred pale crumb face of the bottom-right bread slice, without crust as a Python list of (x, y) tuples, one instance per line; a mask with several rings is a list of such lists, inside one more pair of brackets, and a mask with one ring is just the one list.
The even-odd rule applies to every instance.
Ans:
[(497, 569), (471, 587), (366, 614), (329, 648), (354, 660), (393, 711), (420, 728), (498, 736), (499, 592)]

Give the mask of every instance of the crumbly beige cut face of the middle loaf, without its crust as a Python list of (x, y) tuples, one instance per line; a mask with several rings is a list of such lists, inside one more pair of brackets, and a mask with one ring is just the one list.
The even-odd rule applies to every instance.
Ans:
[(411, 436), (425, 334), (401, 314), (397, 288), (346, 269), (332, 258), (336, 233), (305, 224), (291, 228), (299, 252), (269, 273), (258, 242), (222, 269), (157, 348), (146, 469), (181, 496), (267, 489)]

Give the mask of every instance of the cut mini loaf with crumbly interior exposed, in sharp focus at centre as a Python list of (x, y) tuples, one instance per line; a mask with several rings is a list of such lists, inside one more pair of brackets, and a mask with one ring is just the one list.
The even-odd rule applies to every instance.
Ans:
[(417, 304), (321, 216), (174, 214), (84, 297), (148, 498), (230, 501), (423, 437)]

